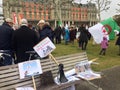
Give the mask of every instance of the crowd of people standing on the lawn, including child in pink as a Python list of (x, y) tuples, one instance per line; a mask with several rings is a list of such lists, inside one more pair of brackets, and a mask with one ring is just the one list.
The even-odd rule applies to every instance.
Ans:
[[(4, 62), (1, 63), (0, 61), (0, 66), (29, 60), (30, 55), (26, 52), (34, 51), (33, 47), (46, 37), (49, 37), (55, 44), (60, 44), (63, 39), (65, 45), (69, 43), (74, 45), (74, 40), (77, 39), (78, 47), (81, 50), (87, 49), (88, 41), (91, 38), (91, 34), (88, 32), (85, 24), (82, 24), (78, 29), (75, 25), (68, 26), (67, 24), (64, 27), (58, 25), (56, 28), (52, 28), (49, 22), (40, 20), (37, 26), (37, 28), (33, 27), (26, 19), (22, 19), (19, 28), (13, 28), (12, 19), (5, 19), (5, 22), (0, 26), (0, 52), (6, 55), (4, 54)], [(78, 32), (79, 35), (76, 37)], [(116, 45), (120, 47), (120, 33), (118, 36)], [(103, 38), (101, 47), (100, 55), (105, 55), (106, 48), (108, 47), (106, 38)]]

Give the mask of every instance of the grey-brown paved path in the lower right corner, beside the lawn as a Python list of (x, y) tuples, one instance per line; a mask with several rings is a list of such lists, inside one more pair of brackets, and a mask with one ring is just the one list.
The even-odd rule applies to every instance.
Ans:
[(103, 73), (102, 78), (91, 81), (96, 86), (82, 82), (76, 86), (76, 90), (120, 90), (120, 66), (114, 66), (101, 72)]

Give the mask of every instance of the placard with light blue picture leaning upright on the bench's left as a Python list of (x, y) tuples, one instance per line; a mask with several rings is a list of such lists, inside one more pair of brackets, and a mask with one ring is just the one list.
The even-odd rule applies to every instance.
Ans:
[(42, 74), (40, 60), (26, 61), (18, 64), (20, 79)]

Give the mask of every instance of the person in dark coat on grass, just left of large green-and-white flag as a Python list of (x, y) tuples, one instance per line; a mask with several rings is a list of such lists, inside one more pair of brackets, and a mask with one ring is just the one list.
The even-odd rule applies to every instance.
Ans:
[(80, 36), (79, 36), (79, 45), (81, 45), (82, 50), (86, 50), (87, 43), (88, 43), (88, 31), (85, 28), (85, 25), (83, 24), (80, 30)]

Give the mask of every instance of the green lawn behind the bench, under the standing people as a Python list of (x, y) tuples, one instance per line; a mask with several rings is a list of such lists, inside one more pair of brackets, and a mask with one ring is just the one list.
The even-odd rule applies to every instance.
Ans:
[[(118, 56), (118, 46), (115, 45), (116, 40), (111, 40), (106, 51), (105, 56), (99, 55), (101, 50), (100, 45), (92, 45), (92, 40), (89, 41), (87, 45), (87, 56), (88, 59), (99, 58), (96, 62), (98, 65), (92, 65), (92, 68), (96, 71), (101, 71), (103, 69), (111, 68), (116, 65), (120, 65), (120, 56)], [(83, 52), (78, 48), (78, 43), (75, 41), (75, 44), (65, 45), (64, 41), (61, 44), (55, 44), (56, 49), (52, 52), (55, 57), (64, 56), (73, 53)]]

